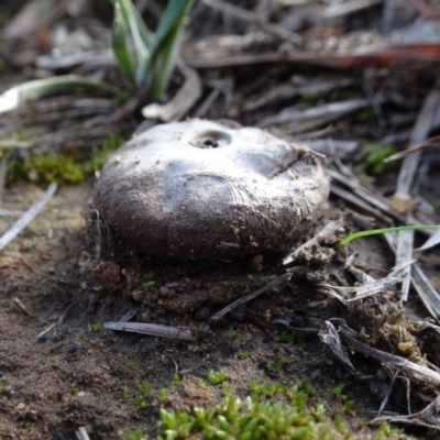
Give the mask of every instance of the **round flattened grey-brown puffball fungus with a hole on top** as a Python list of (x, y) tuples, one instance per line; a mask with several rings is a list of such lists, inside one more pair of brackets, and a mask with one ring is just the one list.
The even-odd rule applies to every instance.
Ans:
[(304, 235), (328, 196), (323, 158), (308, 146), (193, 120), (156, 125), (114, 152), (95, 207), (140, 251), (230, 260)]

